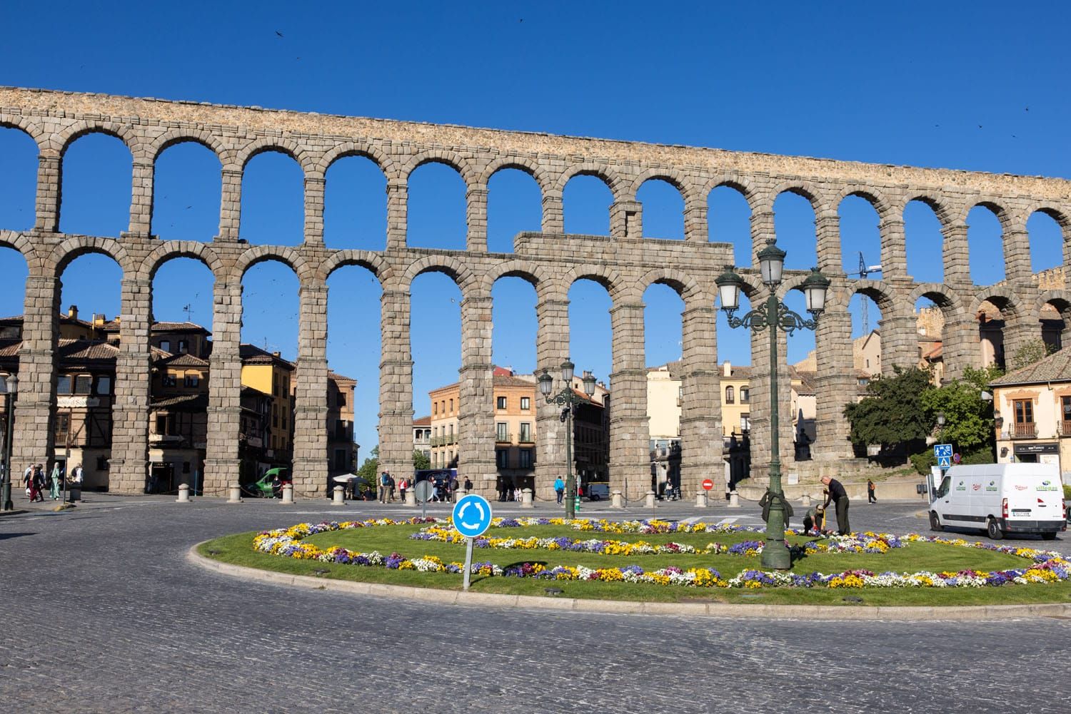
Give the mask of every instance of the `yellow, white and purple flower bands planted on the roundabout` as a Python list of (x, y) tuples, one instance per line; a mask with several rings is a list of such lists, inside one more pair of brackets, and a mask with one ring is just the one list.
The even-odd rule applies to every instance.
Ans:
[[(449, 526), (448, 520), (436, 518), (409, 518), (407, 520), (371, 519), (360, 521), (323, 522), (323, 523), (298, 523), (286, 529), (263, 531), (254, 537), (254, 549), (285, 558), (296, 558), (304, 560), (316, 560), (325, 563), (338, 563), (361, 566), (378, 566), (389, 569), (412, 569), (422, 573), (461, 573), (464, 565), (458, 562), (443, 562), (435, 556), (424, 556), (421, 558), (407, 558), (401, 553), (382, 555), (378, 551), (359, 552), (341, 547), (319, 548), (310, 543), (302, 543), (302, 540), (316, 533), (331, 531), (389, 527), (399, 525), (427, 526), (422, 533), (434, 534), (444, 530)], [(674, 533), (674, 532), (757, 532), (742, 526), (707, 526), (705, 523), (675, 523), (673, 521), (598, 521), (587, 519), (575, 519), (572, 521), (560, 518), (527, 518), (527, 519), (496, 519), (495, 527), (515, 528), (523, 526), (555, 525), (568, 526), (578, 531), (602, 531), (616, 533)], [(788, 531), (795, 533), (795, 531)], [(420, 534), (417, 534), (420, 535)], [(444, 537), (438, 536), (436, 537)], [(425, 537), (423, 540), (434, 540)], [(496, 538), (485, 538), (491, 543)], [(524, 542), (527, 538), (499, 538), (499, 541)], [(537, 538), (539, 541), (539, 538)], [(549, 538), (548, 541), (556, 541)], [(448, 542), (454, 543), (453, 538)], [(584, 541), (569, 540), (570, 543), (588, 543)], [(1030, 561), (1022, 568), (1010, 568), (1002, 571), (975, 571), (964, 569), (959, 572), (917, 572), (917, 573), (875, 573), (866, 569), (848, 569), (840, 573), (809, 573), (797, 574), (793, 572), (768, 572), (760, 569), (745, 569), (731, 578), (723, 578), (714, 568), (690, 567), (680, 568), (675, 566), (645, 569), (635, 564), (623, 567), (588, 567), (584, 565), (557, 565), (546, 567), (541, 563), (522, 563), (502, 567), (491, 562), (478, 562), (472, 564), (471, 572), (483, 576), (499, 576), (514, 578), (538, 578), (545, 580), (597, 580), (604, 582), (640, 582), (658, 586), (687, 586), (694, 588), (981, 588), (997, 587), (1010, 583), (1046, 583), (1067, 580), (1071, 576), (1071, 563), (1059, 553), (1034, 548), (1021, 548), (1014, 546), (996, 546), (990, 543), (968, 543), (962, 538), (949, 540), (939, 536), (925, 536), (911, 534), (896, 538), (888, 534), (865, 533), (856, 536), (846, 536), (846, 540), (830, 540), (819, 542), (815, 546), (816, 552), (861, 552), (857, 547), (863, 547), (863, 543), (881, 542), (886, 544), (886, 550), (873, 550), (870, 552), (886, 552), (891, 547), (909, 547), (912, 543), (936, 543), (950, 547), (981, 548), (984, 550), (997, 551), (1010, 556), (1015, 556)], [(607, 543), (607, 542), (599, 542)], [(618, 543), (622, 542), (608, 542)], [(755, 544), (757, 542), (745, 542)], [(896, 545), (893, 546), (892, 544)], [(638, 545), (638, 544), (624, 544)], [(645, 544), (649, 547), (651, 544)], [(680, 544), (669, 544), (680, 545)], [(714, 544), (718, 545), (718, 544)], [(740, 544), (737, 544), (740, 545)], [(524, 547), (524, 546), (519, 546)], [(879, 547), (874, 545), (873, 547)], [(820, 549), (819, 549), (820, 548)], [(843, 548), (843, 549), (842, 549)], [(553, 548), (548, 548), (553, 549)], [(561, 548), (559, 548), (561, 549)], [(754, 548), (752, 548), (754, 550)], [(693, 548), (692, 551), (695, 551)], [(599, 552), (605, 553), (606, 550)], [(643, 552), (643, 551), (637, 551)], [(678, 550), (678, 552), (688, 552)], [(727, 551), (726, 551), (727, 552)], [(634, 553), (621, 553), (634, 555)], [(741, 553), (743, 555), (743, 553)], [(751, 555), (755, 555), (752, 552)]]

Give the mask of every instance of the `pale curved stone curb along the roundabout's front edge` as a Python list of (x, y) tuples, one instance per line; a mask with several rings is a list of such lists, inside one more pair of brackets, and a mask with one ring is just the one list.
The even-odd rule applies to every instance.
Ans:
[(740, 603), (642, 603), (635, 601), (587, 599), (576, 597), (540, 597), (538, 595), (502, 595), (473, 593), (411, 586), (388, 586), (379, 582), (333, 580), (308, 575), (287, 575), (244, 565), (232, 565), (205, 558), (194, 544), (186, 560), (198, 567), (236, 578), (307, 590), (330, 590), (352, 595), (404, 597), (408, 601), (440, 605), (468, 605), (496, 608), (534, 608), (600, 612), (604, 614), (676, 614), (710, 618), (781, 618), (794, 620), (1008, 620), (1014, 618), (1071, 618), (1071, 604), (1040, 603), (1026, 605), (963, 605), (931, 606), (866, 606), (866, 605), (746, 605)]

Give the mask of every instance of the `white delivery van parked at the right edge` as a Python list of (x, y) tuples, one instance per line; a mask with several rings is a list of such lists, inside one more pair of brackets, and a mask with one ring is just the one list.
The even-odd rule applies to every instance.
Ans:
[(991, 538), (1067, 530), (1064, 488), (1055, 464), (953, 466), (930, 493), (930, 528), (980, 528)]

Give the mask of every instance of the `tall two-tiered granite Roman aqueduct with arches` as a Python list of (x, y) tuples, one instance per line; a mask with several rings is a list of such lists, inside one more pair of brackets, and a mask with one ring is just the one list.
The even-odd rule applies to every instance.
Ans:
[[(210, 391), (210, 436), (206, 490), (223, 493), (238, 477), (240, 364), (238, 340), (242, 309), (241, 280), (254, 263), (274, 259), (290, 265), (301, 283), (295, 428), (296, 487), (306, 496), (322, 495), (328, 471), (326, 439), (328, 276), (341, 265), (359, 264), (379, 279), (382, 292), (380, 362), (380, 459), (384, 469), (404, 473), (412, 452), (412, 356), (409, 345), (409, 286), (421, 273), (438, 271), (453, 278), (463, 293), (462, 410), (472, 428), (462, 450), (459, 474), (489, 491), (494, 441), (484, 434), (491, 404), (489, 294), (496, 279), (517, 275), (537, 290), (539, 368), (554, 371), (568, 356), (568, 294), (572, 283), (591, 278), (613, 300), (614, 326), (612, 478), (628, 484), (630, 497), (649, 484), (643, 294), (652, 283), (673, 287), (684, 301), (683, 410), (681, 420), (684, 489), (719, 471), (721, 414), (715, 364), (714, 278), (733, 261), (733, 248), (707, 240), (707, 196), (718, 186), (739, 191), (752, 211), (753, 253), (773, 234), (773, 202), (784, 192), (805, 197), (816, 216), (819, 265), (833, 279), (827, 316), (817, 336), (819, 375), (816, 458), (847, 453), (840, 406), (854, 398), (854, 383), (841, 370), (850, 355), (848, 301), (864, 292), (878, 302), (884, 317), (886, 368), (907, 361), (916, 344), (911, 316), (917, 300), (931, 298), (946, 323), (947, 375), (978, 363), (978, 335), (972, 316), (982, 301), (1000, 308), (1015, 340), (1039, 332), (1039, 314), (1052, 304), (1069, 315), (1064, 289), (1042, 289), (1029, 275), (1026, 221), (1035, 211), (1052, 215), (1068, 231), (1071, 183), (1039, 177), (923, 169), (796, 156), (728, 152), (678, 146), (647, 145), (544, 134), (501, 132), (465, 126), (420, 124), (323, 116), (191, 102), (137, 100), (102, 94), (0, 88), (0, 125), (26, 132), (37, 145), (36, 218), (27, 231), (0, 230), (0, 244), (19, 250), (29, 264), (26, 288), (26, 339), (20, 354), (17, 462), (50, 457), (47, 435), (55, 408), (55, 350), (59, 277), (85, 253), (111, 256), (123, 270), (123, 355), (118, 364), (116, 447), (123, 477), (112, 488), (139, 492), (147, 468), (144, 412), (147, 398), (147, 330), (152, 276), (166, 260), (186, 256), (201, 260), (215, 278), (215, 344)], [(133, 156), (129, 231), (119, 238), (58, 232), (63, 154), (78, 137), (103, 132), (120, 138)], [(223, 187), (218, 234), (210, 243), (162, 241), (150, 234), (155, 161), (167, 147), (196, 141), (218, 156)], [(305, 176), (305, 240), (299, 247), (248, 245), (239, 240), (242, 172), (262, 151), (292, 156)], [(374, 161), (387, 177), (387, 247), (382, 252), (331, 250), (323, 245), (325, 177), (346, 155)], [(408, 177), (428, 162), (454, 167), (467, 184), (467, 249), (437, 250), (406, 243)], [(514, 254), (486, 249), (487, 185), (503, 168), (529, 172), (542, 193), (542, 232), (524, 233)], [(601, 177), (609, 186), (610, 236), (563, 233), (562, 191), (580, 173)], [(683, 241), (643, 239), (643, 204), (635, 200), (649, 179), (675, 185), (684, 199)], [(841, 272), (838, 208), (849, 195), (862, 196), (877, 210), (881, 236), (883, 280), (853, 280)], [(945, 234), (945, 283), (917, 284), (906, 274), (903, 210), (910, 200), (934, 208)], [(1008, 279), (985, 289), (969, 283), (966, 215), (975, 206), (990, 208), (1004, 227)], [(791, 249), (791, 245), (783, 246)], [(753, 271), (753, 304), (766, 292)], [(796, 289), (803, 273), (789, 272), (782, 295)], [(127, 325), (130, 325), (127, 328)], [(972, 329), (974, 328), (974, 329)], [(890, 334), (891, 333), (891, 334)], [(755, 375), (768, 374), (769, 337), (756, 335)], [(899, 347), (897, 347), (899, 346)], [(776, 352), (784, 355), (785, 337)], [(782, 364), (784, 364), (782, 362)], [(770, 443), (770, 390), (761, 378), (752, 397), (752, 443), (757, 452)], [(782, 379), (787, 401), (787, 378)], [(765, 396), (764, 396), (765, 394)], [(554, 462), (561, 434), (553, 410), (540, 407), (538, 477)], [(787, 412), (786, 412), (787, 413)], [(790, 452), (790, 420), (782, 420), (782, 451)], [(483, 425), (483, 426), (480, 426)], [(766, 429), (767, 432), (764, 432)], [(769, 460), (768, 458), (766, 459)], [(763, 459), (756, 459), (763, 464)]]

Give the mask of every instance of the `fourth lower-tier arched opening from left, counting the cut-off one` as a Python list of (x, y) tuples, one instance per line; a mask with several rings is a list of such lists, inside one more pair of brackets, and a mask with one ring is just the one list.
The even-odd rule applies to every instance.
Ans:
[(263, 410), (262, 446), (243, 458), (243, 478), (275, 468), (292, 473), (299, 288), (293, 269), (274, 258), (242, 276), (242, 392)]

